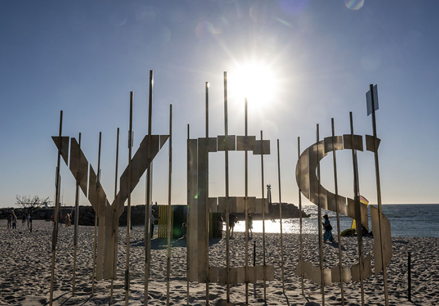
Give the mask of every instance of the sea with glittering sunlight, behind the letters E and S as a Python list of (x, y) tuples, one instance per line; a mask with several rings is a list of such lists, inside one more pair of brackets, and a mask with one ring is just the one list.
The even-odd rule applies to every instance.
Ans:
[[(302, 233), (318, 233), (318, 208), (315, 205), (304, 205), (303, 211), (311, 214), (302, 219)], [(439, 204), (393, 204), (383, 205), (383, 214), (391, 224), (392, 237), (433, 237), (439, 238)], [(332, 211), (322, 210), (322, 215), (328, 214), (333, 227), (332, 233), (337, 233), (337, 218)], [(351, 227), (352, 219), (340, 216), (340, 230)], [(299, 234), (299, 218), (282, 220), (282, 232)], [(225, 230), (225, 228), (224, 228)], [(369, 209), (369, 230), (372, 230)], [(245, 223), (239, 221), (235, 225), (235, 232), (245, 231)], [(262, 233), (262, 221), (253, 221), (253, 232)], [(265, 220), (265, 233), (280, 233), (279, 220)]]

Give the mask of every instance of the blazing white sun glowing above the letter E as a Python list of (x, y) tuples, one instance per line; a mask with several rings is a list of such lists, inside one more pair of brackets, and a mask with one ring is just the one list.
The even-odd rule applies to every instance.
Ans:
[(237, 65), (228, 74), (231, 97), (237, 101), (247, 98), (249, 105), (263, 109), (276, 97), (277, 86), (272, 67), (263, 62), (247, 62)]

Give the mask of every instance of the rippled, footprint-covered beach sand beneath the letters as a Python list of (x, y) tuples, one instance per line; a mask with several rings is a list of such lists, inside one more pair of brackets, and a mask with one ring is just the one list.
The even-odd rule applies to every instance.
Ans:
[[(0, 305), (46, 305), (50, 297), (52, 263), (53, 223), (34, 221), (34, 232), (29, 233), (26, 225), (17, 224), (17, 230), (8, 230), (6, 220), (0, 229)], [(72, 297), (74, 226), (60, 224), (56, 251), (54, 305), (108, 305), (110, 302), (110, 281), (95, 284), (95, 294), (91, 297), (91, 271), (93, 252), (93, 227), (79, 226), (78, 256), (76, 272), (76, 295)], [(245, 265), (245, 238), (243, 233), (235, 233), (230, 240), (230, 265)], [(262, 264), (262, 234), (253, 234), (249, 245), (249, 264), (253, 264), (253, 241), (256, 241), (256, 264)], [(275, 266), (275, 281), (267, 282), (266, 302), (268, 305), (305, 305), (315, 302), (322, 305), (319, 285), (304, 281), (305, 295), (301, 295), (300, 277), (296, 275), (299, 260), (299, 235), (284, 234), (284, 282), (282, 292), (282, 269), (280, 255), (280, 235), (265, 235), (266, 264)], [(152, 241), (152, 264), (149, 281), (149, 304), (166, 305), (166, 239)], [(130, 305), (143, 304), (144, 244), (143, 229), (135, 227), (131, 231), (130, 251)], [(186, 247), (184, 240), (172, 241), (170, 304), (186, 305)], [(304, 259), (319, 263), (317, 235), (304, 235)], [(356, 237), (342, 238), (343, 264), (358, 261)], [(126, 228), (119, 229), (119, 249), (117, 279), (114, 281), (115, 305), (125, 305), (124, 271), (126, 260)], [(364, 252), (373, 252), (373, 239), (364, 238)], [(226, 265), (226, 240), (212, 240), (209, 250), (210, 263), (214, 266)], [(411, 296), (407, 299), (407, 252), (411, 252)], [(373, 254), (372, 254), (373, 257)], [(336, 244), (324, 244), (324, 265), (332, 267), (338, 262)], [(372, 269), (373, 269), (372, 260)], [(393, 238), (393, 259), (387, 265), (387, 284), (390, 305), (435, 305), (439, 304), (439, 240), (437, 238)], [(204, 284), (190, 283), (191, 305), (205, 305)], [(210, 284), (210, 304), (223, 305), (226, 286)], [(231, 286), (232, 304), (245, 304), (245, 285)], [(384, 305), (383, 276), (372, 275), (364, 280), (366, 305)], [(249, 304), (263, 304), (263, 282), (249, 284)], [(325, 286), (325, 304), (341, 305), (340, 284)], [(345, 284), (345, 304), (360, 305), (360, 284)]]

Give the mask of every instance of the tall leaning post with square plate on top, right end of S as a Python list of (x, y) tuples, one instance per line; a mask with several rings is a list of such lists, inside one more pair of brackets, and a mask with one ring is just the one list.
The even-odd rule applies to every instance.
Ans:
[(377, 122), (375, 117), (375, 99), (374, 99), (374, 86), (372, 84), (369, 85), (369, 88), (371, 90), (371, 97), (372, 97), (372, 127), (373, 127), (373, 134), (374, 134), (374, 156), (375, 156), (375, 175), (376, 175), (376, 182), (377, 182), (377, 198), (378, 198), (378, 222), (380, 226), (380, 242), (381, 242), (381, 262), (383, 266), (383, 283), (384, 283), (384, 299), (385, 299), (385, 306), (388, 306), (388, 291), (387, 291), (387, 270), (386, 265), (384, 262), (384, 245), (383, 245), (383, 228), (381, 220), (383, 218), (382, 216), (382, 203), (381, 203), (381, 183), (380, 183), (380, 169), (379, 169), (379, 163), (378, 163), (378, 147), (376, 143), (377, 139)]

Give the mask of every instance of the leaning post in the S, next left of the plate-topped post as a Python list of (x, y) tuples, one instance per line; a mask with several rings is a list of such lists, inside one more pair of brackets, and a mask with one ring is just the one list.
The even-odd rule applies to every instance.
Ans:
[(358, 179), (358, 162), (357, 151), (354, 149), (354, 123), (352, 119), (352, 112), (349, 112), (349, 119), (351, 122), (351, 146), (352, 146), (352, 163), (354, 167), (354, 200), (355, 200), (355, 223), (358, 240), (358, 263), (360, 274), (360, 290), (361, 290), (361, 305), (364, 306), (364, 284), (363, 284), (363, 237), (361, 234), (361, 212), (360, 212), (360, 183)]

